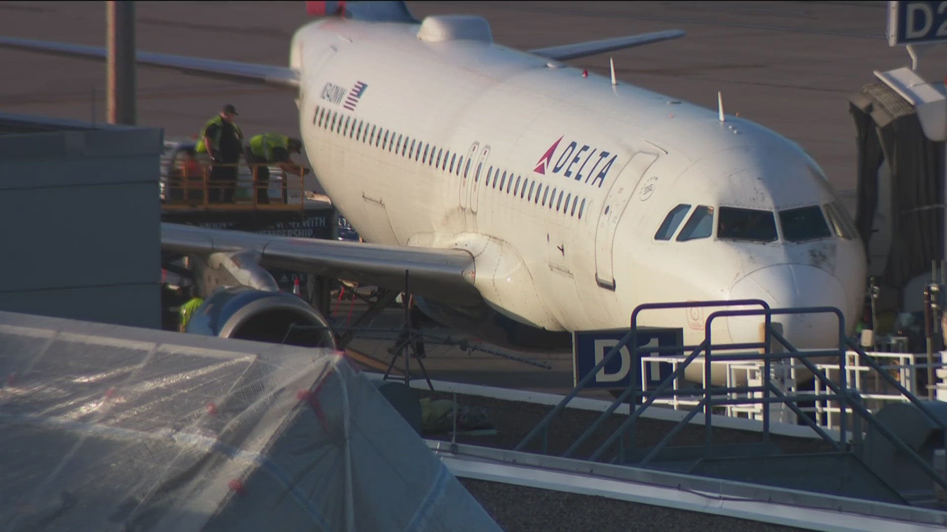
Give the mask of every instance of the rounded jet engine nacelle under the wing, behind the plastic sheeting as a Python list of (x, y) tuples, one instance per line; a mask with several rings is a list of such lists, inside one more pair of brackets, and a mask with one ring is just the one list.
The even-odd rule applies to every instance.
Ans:
[(306, 302), (292, 293), (264, 292), (246, 286), (214, 291), (194, 312), (187, 332), (291, 346), (335, 348), (329, 322)]

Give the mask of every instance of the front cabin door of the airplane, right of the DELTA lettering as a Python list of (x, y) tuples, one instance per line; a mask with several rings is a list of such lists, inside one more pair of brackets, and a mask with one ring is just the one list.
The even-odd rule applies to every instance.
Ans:
[(608, 190), (599, 213), (599, 226), (595, 232), (595, 276), (599, 286), (615, 290), (615, 275), (612, 267), (612, 249), (615, 246), (615, 230), (634, 188), (657, 159), (653, 153), (638, 152), (621, 169), (618, 178)]

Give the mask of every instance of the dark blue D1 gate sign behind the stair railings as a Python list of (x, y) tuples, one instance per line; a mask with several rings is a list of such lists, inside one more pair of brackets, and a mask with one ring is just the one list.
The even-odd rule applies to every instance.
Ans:
[[(617, 346), (627, 328), (607, 328), (600, 330), (577, 330), (572, 333), (572, 375), (574, 383), (588, 375), (599, 364), (612, 347)], [(684, 333), (680, 328), (638, 328), (638, 347), (683, 346)], [(679, 352), (638, 353), (642, 356), (673, 356)], [(596, 376), (585, 385), (590, 389), (627, 388), (633, 376), (637, 375), (640, 362), (632, 360), (629, 346), (621, 346), (618, 354), (605, 364)], [(673, 368), (671, 364), (653, 363), (644, 368), (647, 387), (652, 389), (668, 377)]]

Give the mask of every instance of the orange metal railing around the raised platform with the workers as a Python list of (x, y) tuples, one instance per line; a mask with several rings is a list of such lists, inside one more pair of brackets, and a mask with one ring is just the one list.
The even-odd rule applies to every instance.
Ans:
[[(233, 168), (235, 178), (216, 179), (214, 168)], [(260, 178), (261, 168), (269, 179)], [(163, 177), (163, 207), (166, 209), (301, 209), (305, 203), (302, 176), (268, 164), (196, 163), (192, 168), (176, 168)], [(278, 190), (277, 197), (271, 192)]]

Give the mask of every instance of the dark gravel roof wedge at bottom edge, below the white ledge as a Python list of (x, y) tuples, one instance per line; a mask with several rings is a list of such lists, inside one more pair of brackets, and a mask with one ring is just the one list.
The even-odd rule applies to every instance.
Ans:
[(794, 526), (759, 523), (664, 506), (641, 505), (595, 495), (527, 488), (461, 478), (464, 485), (507, 532), (559, 530), (618, 532), (792, 532)]

